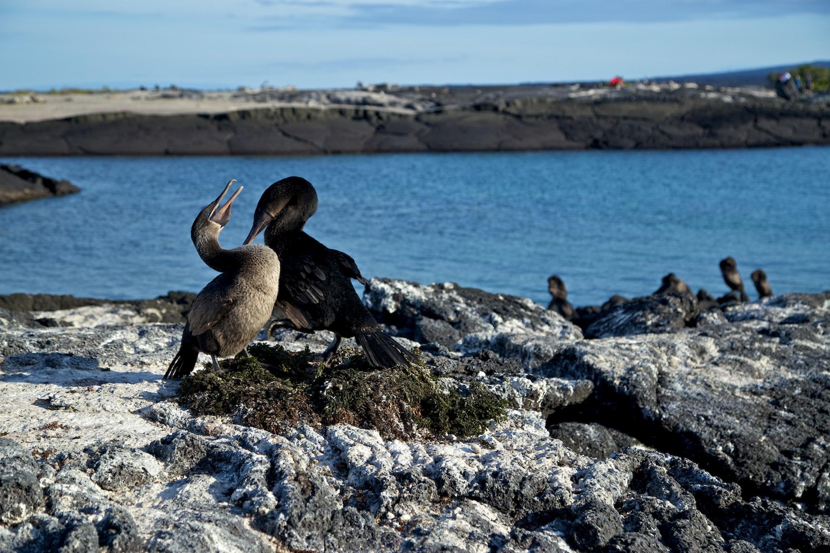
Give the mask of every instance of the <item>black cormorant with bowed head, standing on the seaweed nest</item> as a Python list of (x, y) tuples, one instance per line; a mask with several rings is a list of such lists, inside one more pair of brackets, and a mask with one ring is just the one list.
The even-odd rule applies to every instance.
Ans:
[(300, 177), (271, 184), (256, 204), (254, 223), (244, 243), (251, 243), (266, 229), (266, 246), (280, 257), (280, 293), (273, 317), (276, 325), (301, 332), (334, 332), (334, 340), (321, 355), (323, 361), (334, 355), (343, 338), (354, 336), (370, 365), (408, 365), (412, 354), (380, 330), (354, 291), (351, 279), (368, 284), (354, 259), (303, 232), (315, 211), (317, 192)]

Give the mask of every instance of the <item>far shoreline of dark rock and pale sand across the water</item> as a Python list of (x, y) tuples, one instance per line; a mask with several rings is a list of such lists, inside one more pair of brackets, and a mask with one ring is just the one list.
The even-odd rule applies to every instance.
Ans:
[[(77, 101), (91, 103), (79, 110), (67, 108), (66, 102), (60, 109), (49, 108), (48, 103), (0, 106), (0, 155), (358, 154), (830, 144), (826, 95), (788, 102), (775, 98), (774, 92), (751, 87), (672, 83), (619, 90), (579, 85), (265, 89), (233, 94), (177, 90), (168, 95), (135, 92), (134, 100), (130, 94), (105, 95), (115, 97), (98, 103), (81, 98)], [(73, 115), (59, 115), (64, 112)]]

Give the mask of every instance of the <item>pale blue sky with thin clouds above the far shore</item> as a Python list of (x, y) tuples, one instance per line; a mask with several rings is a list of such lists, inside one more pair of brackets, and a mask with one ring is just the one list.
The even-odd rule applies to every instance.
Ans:
[(0, 90), (637, 78), (830, 59), (828, 0), (0, 0)]

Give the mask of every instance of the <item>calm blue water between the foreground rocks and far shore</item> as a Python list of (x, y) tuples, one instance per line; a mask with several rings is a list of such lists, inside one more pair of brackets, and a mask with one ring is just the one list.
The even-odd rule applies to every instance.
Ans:
[(748, 291), (756, 267), (776, 293), (830, 288), (828, 148), (0, 162), (83, 188), (0, 208), (0, 293), (198, 291), (216, 274), (190, 242), (199, 208), (228, 179), (245, 186), (221, 237), (235, 247), (261, 192), (290, 175), (320, 197), (306, 230), (365, 276), (546, 303), (558, 273), (585, 305), (651, 293), (667, 272), (723, 294), (731, 255)]

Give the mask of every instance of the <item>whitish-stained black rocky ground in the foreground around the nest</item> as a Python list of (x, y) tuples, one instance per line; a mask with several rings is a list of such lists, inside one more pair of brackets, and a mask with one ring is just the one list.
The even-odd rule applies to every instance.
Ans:
[(401, 440), (193, 416), (160, 379), (187, 296), (0, 298), (0, 549), (830, 548), (830, 292), (646, 296), (591, 331), (452, 283), (373, 279), (364, 301), (506, 417)]

